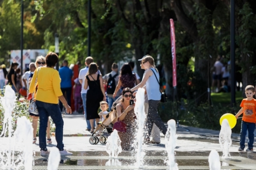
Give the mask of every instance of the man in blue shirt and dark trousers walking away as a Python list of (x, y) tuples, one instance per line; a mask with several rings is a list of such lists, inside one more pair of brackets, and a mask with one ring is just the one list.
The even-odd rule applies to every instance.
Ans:
[[(59, 74), (61, 79), (60, 89), (63, 95), (65, 95), (65, 92), (66, 92), (68, 105), (71, 106), (71, 91), (72, 91), (71, 79), (73, 76), (73, 71), (70, 68), (68, 68), (67, 60), (63, 60), (62, 65), (63, 67), (59, 69)], [(60, 111), (62, 111), (63, 109), (62, 102), (59, 101), (59, 105), (60, 105)]]

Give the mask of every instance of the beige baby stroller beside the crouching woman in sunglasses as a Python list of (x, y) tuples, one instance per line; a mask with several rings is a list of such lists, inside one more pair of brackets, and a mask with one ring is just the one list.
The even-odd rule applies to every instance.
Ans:
[(107, 143), (107, 136), (104, 136), (104, 134), (100, 134), (100, 137), (96, 136), (99, 135), (97, 131), (99, 129), (105, 129), (107, 130), (107, 133), (110, 134), (113, 132), (113, 125), (117, 121), (117, 110), (116, 106), (117, 104), (121, 103), (122, 96), (118, 97), (118, 99), (113, 103), (113, 106), (111, 107), (111, 111), (107, 114), (106, 119), (102, 121), (101, 123), (98, 123), (98, 127), (94, 130), (92, 133), (92, 136), (89, 139), (89, 143), (91, 145), (96, 145), (99, 142), (101, 144)]

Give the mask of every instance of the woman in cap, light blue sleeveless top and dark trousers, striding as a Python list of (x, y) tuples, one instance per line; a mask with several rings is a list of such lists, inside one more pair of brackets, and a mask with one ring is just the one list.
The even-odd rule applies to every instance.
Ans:
[(145, 76), (143, 77), (141, 83), (132, 88), (132, 91), (138, 90), (139, 88), (142, 88), (144, 84), (146, 84), (146, 93), (149, 101), (149, 110), (147, 114), (147, 127), (149, 135), (146, 138), (146, 142), (149, 142), (153, 123), (156, 124), (164, 135), (166, 134), (167, 128), (157, 112), (157, 107), (161, 100), (161, 93), (160, 85), (158, 83), (159, 73), (156, 69), (154, 59), (152, 56), (145, 56), (142, 58), (141, 64), (143, 64), (144, 68), (146, 69)]

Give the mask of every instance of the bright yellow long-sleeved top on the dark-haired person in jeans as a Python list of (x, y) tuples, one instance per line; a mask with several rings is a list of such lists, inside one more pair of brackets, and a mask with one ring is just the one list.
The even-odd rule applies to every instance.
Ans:
[[(38, 73), (38, 76), (37, 76)], [(58, 104), (59, 96), (62, 96), (60, 90), (60, 75), (56, 69), (49, 67), (39, 67), (35, 70), (32, 81), (29, 86), (29, 93), (34, 93), (37, 77), (38, 89), (36, 92), (36, 101)]]

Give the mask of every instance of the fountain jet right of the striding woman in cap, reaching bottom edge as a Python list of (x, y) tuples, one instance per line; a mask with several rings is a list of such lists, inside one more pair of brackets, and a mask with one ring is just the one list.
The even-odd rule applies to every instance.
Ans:
[(169, 170), (178, 170), (178, 164), (175, 162), (174, 149), (176, 147), (176, 122), (171, 119), (167, 122), (168, 128), (165, 134), (165, 149), (168, 155), (168, 160), (166, 161), (169, 165)]

